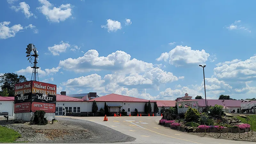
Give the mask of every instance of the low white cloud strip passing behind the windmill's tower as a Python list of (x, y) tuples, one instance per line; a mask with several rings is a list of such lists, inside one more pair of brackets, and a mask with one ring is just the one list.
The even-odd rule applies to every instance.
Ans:
[[(38, 70), (39, 76), (49, 76), (52, 74), (56, 74), (60, 68), (61, 67), (51, 68), (51, 69), (45, 68), (44, 70), (42, 70), (41, 68), (38, 68), (37, 70)], [(16, 73), (19, 75), (26, 75), (26, 74), (32, 75), (32, 72), (33, 72), (33, 68), (31, 68), (31, 67), (27, 67), (26, 69), (20, 69), (20, 70), (16, 71)]]

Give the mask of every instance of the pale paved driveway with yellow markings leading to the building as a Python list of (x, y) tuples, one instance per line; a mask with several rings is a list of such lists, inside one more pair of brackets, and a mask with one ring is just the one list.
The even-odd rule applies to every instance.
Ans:
[[(160, 116), (122, 116), (108, 117), (104, 122), (103, 117), (71, 117), (73, 119), (87, 120), (102, 124), (116, 131), (136, 138), (126, 143), (169, 143), (169, 144), (249, 144), (254, 142), (216, 139), (201, 137), (187, 132), (179, 132), (158, 125)], [(57, 117), (58, 119), (58, 117)]]

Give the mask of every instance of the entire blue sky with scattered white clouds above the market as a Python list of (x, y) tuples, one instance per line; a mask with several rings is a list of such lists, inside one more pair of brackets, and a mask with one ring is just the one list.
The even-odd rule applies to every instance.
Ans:
[(148, 100), (256, 93), (255, 1), (1, 0), (0, 75)]

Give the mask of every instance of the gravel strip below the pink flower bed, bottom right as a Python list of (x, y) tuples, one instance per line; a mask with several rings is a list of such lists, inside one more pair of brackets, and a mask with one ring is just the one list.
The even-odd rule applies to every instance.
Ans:
[[(223, 132), (221, 133), (221, 136), (220, 136), (220, 133), (218, 132), (206, 132), (206, 134), (204, 132), (193, 132), (193, 134), (197, 134), (197, 135), (204, 135), (204, 136), (211, 136), (211, 137), (216, 137), (216, 138), (226, 138), (226, 139), (232, 139), (232, 140), (249, 140), (249, 141), (256, 141), (256, 132), (253, 131), (253, 134), (252, 134), (252, 131), (251, 132), (243, 132), (243, 133), (240, 133), (240, 139), (239, 139), (239, 135), (238, 133), (231, 133), (229, 132), (227, 134), (227, 132)], [(249, 134), (249, 136), (248, 136)]]

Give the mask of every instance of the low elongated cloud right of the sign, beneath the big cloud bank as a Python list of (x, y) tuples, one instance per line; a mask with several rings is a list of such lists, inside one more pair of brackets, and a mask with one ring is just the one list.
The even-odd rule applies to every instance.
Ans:
[(98, 74), (92, 74), (89, 76), (81, 76), (73, 79), (68, 79), (63, 83), (66, 87), (73, 88), (97, 88), (100, 87), (105, 81), (101, 80), (101, 76)]

